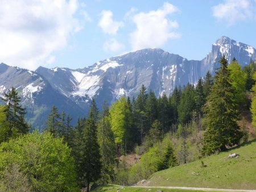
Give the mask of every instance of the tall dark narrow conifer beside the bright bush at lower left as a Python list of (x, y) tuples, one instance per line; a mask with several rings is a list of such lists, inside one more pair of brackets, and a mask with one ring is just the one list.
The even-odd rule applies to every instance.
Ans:
[(102, 167), (100, 145), (97, 141), (95, 106), (93, 103), (90, 106), (88, 119), (82, 131), (80, 170), (82, 171), (82, 178), (86, 183), (87, 191), (89, 191), (90, 182), (95, 182), (100, 178)]

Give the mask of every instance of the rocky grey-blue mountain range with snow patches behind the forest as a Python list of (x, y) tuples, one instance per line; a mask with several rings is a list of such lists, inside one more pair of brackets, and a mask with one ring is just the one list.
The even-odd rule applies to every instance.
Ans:
[(156, 95), (170, 95), (175, 86), (196, 84), (208, 70), (214, 73), (223, 54), (242, 66), (256, 60), (255, 48), (222, 36), (200, 61), (162, 49), (142, 49), (75, 70), (40, 66), (32, 72), (0, 64), (0, 95), (16, 87), (32, 126), (42, 128), (53, 104), (76, 120), (87, 113), (92, 98), (101, 108), (104, 100), (110, 104), (123, 95), (137, 95), (143, 84)]

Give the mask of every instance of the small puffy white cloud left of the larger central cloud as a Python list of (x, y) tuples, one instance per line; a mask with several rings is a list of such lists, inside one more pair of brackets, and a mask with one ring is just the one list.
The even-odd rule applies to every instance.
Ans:
[(116, 22), (113, 20), (113, 12), (110, 10), (101, 11), (101, 19), (98, 26), (102, 28), (106, 34), (117, 34), (119, 27), (123, 27), (123, 22)]

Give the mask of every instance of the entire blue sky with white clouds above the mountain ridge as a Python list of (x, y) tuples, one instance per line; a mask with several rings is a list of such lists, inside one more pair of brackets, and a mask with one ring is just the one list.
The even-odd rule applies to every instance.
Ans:
[(72, 69), (142, 48), (201, 60), (222, 35), (256, 48), (256, 0), (0, 1), (0, 62)]

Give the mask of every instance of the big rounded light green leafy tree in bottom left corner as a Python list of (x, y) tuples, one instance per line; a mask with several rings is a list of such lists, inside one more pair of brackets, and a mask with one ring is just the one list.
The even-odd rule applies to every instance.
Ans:
[(19, 181), (12, 181), (7, 174), (15, 173), (23, 175), (32, 191), (77, 191), (74, 161), (62, 139), (32, 132), (2, 143), (0, 151), (2, 183), (17, 185)]

